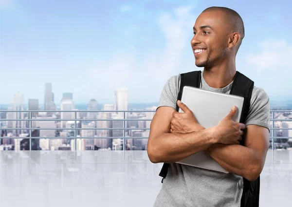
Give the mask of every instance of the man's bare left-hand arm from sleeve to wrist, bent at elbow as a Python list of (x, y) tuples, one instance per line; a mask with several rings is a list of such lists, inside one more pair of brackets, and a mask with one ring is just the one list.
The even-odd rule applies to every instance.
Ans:
[(170, 133), (174, 112), (174, 108), (160, 107), (152, 119), (147, 145), (152, 163), (174, 163), (218, 142), (213, 135), (214, 128), (191, 133)]

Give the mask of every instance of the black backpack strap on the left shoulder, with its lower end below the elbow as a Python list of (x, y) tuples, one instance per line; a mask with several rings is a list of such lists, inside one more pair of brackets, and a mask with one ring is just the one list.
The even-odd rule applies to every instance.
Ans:
[[(201, 71), (192, 71), (189, 73), (181, 74), (181, 84), (180, 84), (180, 90), (179, 90), (177, 100), (182, 99), (183, 86), (191, 86), (191, 87), (200, 88), (200, 84), (201, 84)], [(179, 111), (178, 104), (176, 104), (176, 110), (177, 112)], [(163, 179), (167, 175), (168, 168), (169, 168), (169, 163), (164, 163), (159, 173), (159, 176), (163, 177), (161, 181), (162, 183), (163, 183)]]

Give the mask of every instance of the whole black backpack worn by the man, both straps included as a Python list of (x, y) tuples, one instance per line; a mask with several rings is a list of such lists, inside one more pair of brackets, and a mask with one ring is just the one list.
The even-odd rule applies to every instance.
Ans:
[[(201, 71), (193, 71), (185, 74), (181, 74), (181, 85), (178, 94), (178, 100), (181, 100), (183, 93), (183, 86), (191, 86), (200, 88), (201, 83)], [(234, 82), (231, 87), (230, 94), (238, 95), (244, 98), (243, 108), (240, 117), (240, 123), (244, 123), (249, 112), (250, 101), (252, 96), (252, 91), (254, 88), (254, 81), (246, 77), (245, 75), (236, 72)], [(179, 111), (179, 106), (176, 106), (177, 111)], [(240, 141), (240, 145), (243, 145), (243, 140)], [(164, 163), (159, 176), (164, 178), (167, 175), (169, 168), (168, 163)], [(240, 207), (258, 207), (259, 206), (259, 176), (255, 181), (249, 181), (243, 178), (243, 191), (240, 201)]]

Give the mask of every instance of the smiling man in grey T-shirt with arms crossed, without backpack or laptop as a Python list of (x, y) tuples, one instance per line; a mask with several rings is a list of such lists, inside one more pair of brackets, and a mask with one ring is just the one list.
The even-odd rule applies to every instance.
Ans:
[[(243, 21), (234, 10), (210, 7), (200, 14), (191, 46), (196, 66), (204, 67), (201, 89), (230, 93), (243, 38)], [(180, 75), (166, 82), (150, 126), (149, 159), (170, 163), (154, 207), (240, 207), (242, 177), (256, 180), (269, 148), (269, 97), (254, 87), (245, 124), (232, 121), (236, 110), (231, 110), (216, 127), (204, 129), (179, 101), (184, 113), (176, 112), (179, 86)], [(242, 138), (244, 146), (239, 145)], [(175, 163), (198, 151), (209, 153), (230, 173)]]

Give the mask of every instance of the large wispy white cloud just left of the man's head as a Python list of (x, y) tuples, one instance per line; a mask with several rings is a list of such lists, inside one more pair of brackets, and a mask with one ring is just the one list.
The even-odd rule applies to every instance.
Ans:
[(94, 94), (103, 93), (95, 97), (105, 94), (112, 97), (115, 89), (126, 87), (130, 102), (158, 101), (166, 80), (181, 71), (183, 52), (190, 47), (189, 37), (196, 20), (191, 14), (192, 8), (184, 6), (172, 13), (159, 14), (157, 23), (165, 39), (163, 50), (152, 48), (153, 52), (146, 57), (121, 52), (111, 56), (109, 61), (98, 62), (88, 72), (91, 80), (87, 88), (94, 88)]

